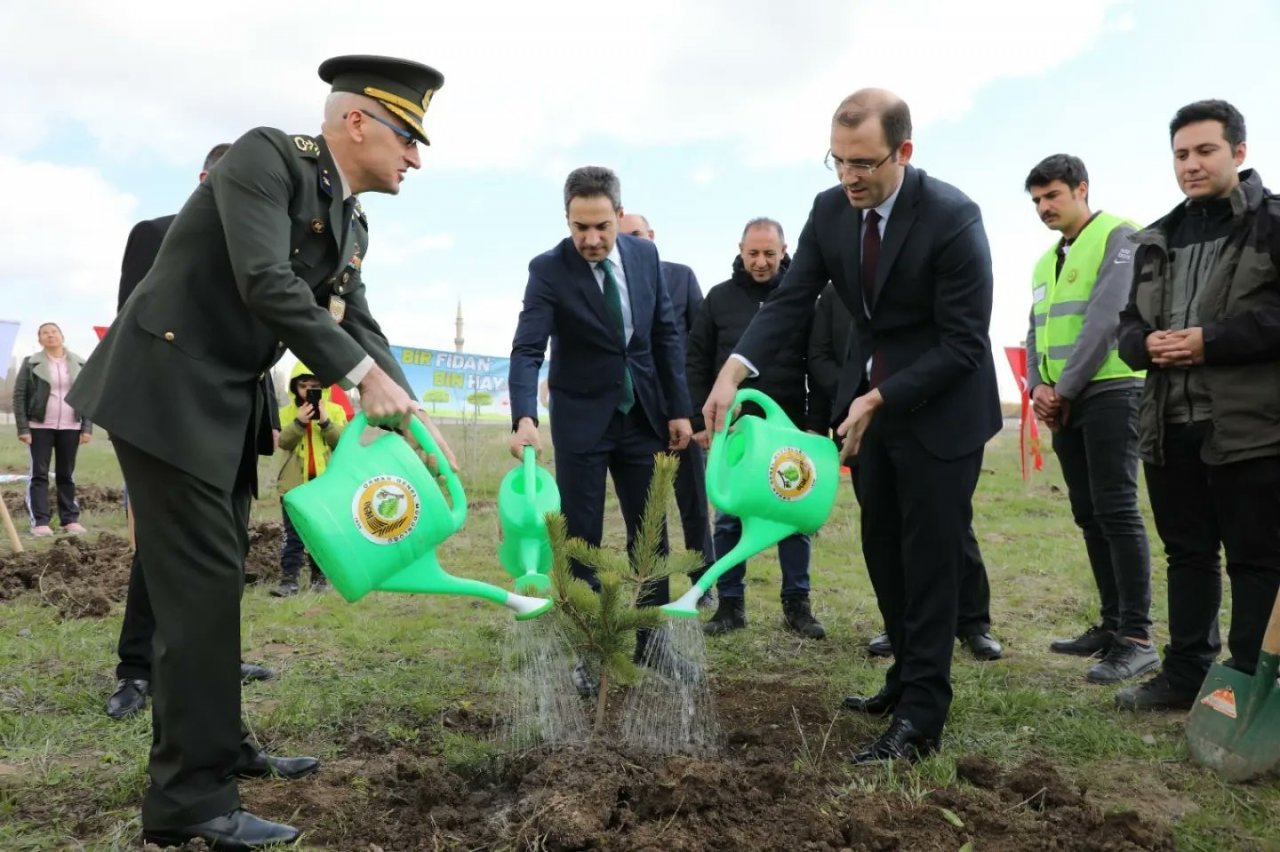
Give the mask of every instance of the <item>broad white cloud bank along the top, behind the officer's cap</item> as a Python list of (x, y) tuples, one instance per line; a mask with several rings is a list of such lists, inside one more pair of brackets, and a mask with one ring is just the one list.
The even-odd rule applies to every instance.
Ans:
[[(599, 137), (717, 141), (749, 164), (796, 162), (815, 156), (836, 100), (865, 84), (892, 86), (920, 125), (955, 120), (993, 79), (1046, 73), (1087, 47), (1117, 5), (1075, 0), (1062, 26), (1057, 6), (1023, 0), (992, 0), (982, 14), (951, 0), (654, 0), (590, 15), (554, 3), (370, 0), (357, 20), (378, 33), (376, 52), (445, 74), (428, 115), (429, 168), (512, 170)], [(77, 124), (114, 156), (189, 164), (209, 139), (257, 124), (314, 129), (315, 68), (362, 49), (351, 26), (333, 23), (356, 14), (346, 3), (300, 15), (227, 0), (206, 12), (9, 4), (0, 32), (22, 38), (0, 51), (0, 73), (23, 81), (6, 95), (27, 122), (0, 128), (0, 151), (33, 150)]]

